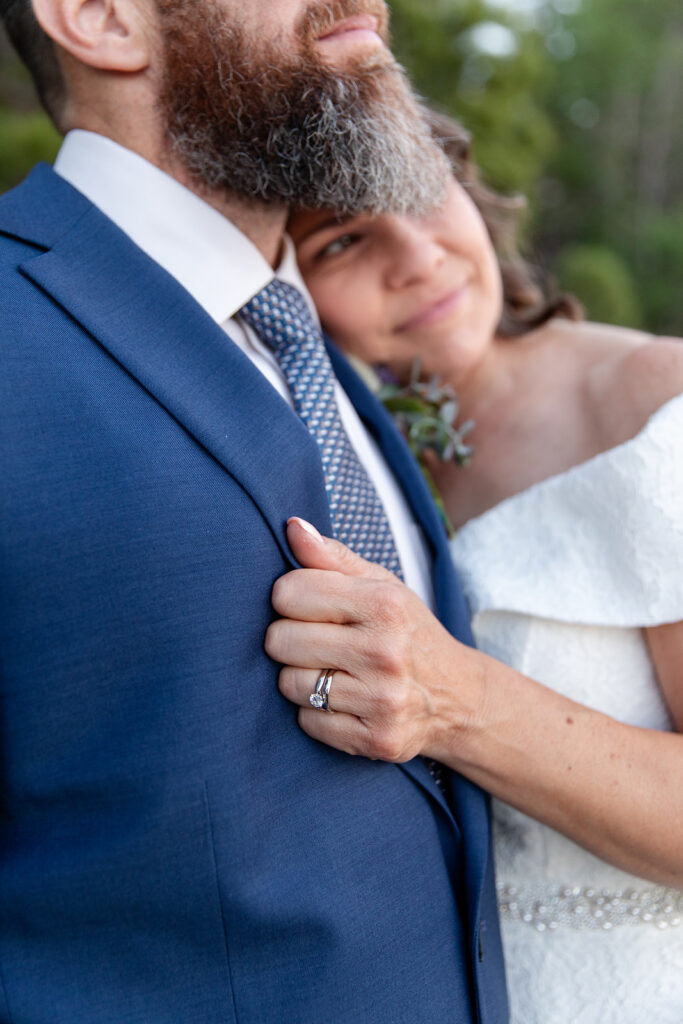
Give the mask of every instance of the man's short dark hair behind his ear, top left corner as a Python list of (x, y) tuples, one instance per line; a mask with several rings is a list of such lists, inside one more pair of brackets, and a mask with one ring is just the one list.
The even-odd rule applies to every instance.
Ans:
[(31, 0), (0, 0), (0, 20), (58, 128), (66, 87), (54, 43), (38, 24)]

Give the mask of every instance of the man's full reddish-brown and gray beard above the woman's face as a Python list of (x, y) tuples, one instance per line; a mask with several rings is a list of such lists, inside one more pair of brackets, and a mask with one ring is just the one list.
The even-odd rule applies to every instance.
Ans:
[(205, 188), (340, 216), (438, 203), (449, 164), (399, 65), (245, 58), (244, 38), (210, 22), (190, 27), (189, 43), (186, 15), (181, 35), (167, 34), (161, 98), (173, 154)]

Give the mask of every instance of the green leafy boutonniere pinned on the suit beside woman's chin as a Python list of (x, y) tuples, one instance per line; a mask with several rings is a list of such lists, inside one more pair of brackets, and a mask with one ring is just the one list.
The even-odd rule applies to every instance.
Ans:
[(408, 440), (449, 537), (453, 537), (455, 529), (443, 508), (426, 457), (431, 452), (439, 462), (455, 462), (458, 466), (467, 466), (474, 449), (465, 438), (471, 433), (474, 422), (468, 420), (462, 425), (458, 424), (458, 395), (449, 384), (442, 384), (438, 377), (423, 381), (419, 358), (413, 364), (411, 379), (405, 385), (400, 385), (384, 367), (362, 367), (355, 360), (354, 365)]

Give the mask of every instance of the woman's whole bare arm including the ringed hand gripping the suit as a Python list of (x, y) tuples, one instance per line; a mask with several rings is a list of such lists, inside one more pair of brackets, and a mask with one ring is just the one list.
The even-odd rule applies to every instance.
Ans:
[[(683, 887), (683, 736), (624, 725), (458, 643), (390, 573), (300, 520), (288, 529), (309, 568), (275, 584), (284, 617), (266, 650), (309, 735), (386, 761), (434, 758), (617, 867)], [(676, 711), (683, 626), (666, 630), (650, 644)], [(328, 667), (335, 715), (308, 702)]]

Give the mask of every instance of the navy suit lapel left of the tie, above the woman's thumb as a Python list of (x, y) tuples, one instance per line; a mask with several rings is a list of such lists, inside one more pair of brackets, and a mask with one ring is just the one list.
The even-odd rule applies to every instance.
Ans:
[(330, 532), (317, 447), (299, 418), (191, 296), (95, 207), (81, 209), (20, 269), (240, 481), (290, 561), (289, 515)]

